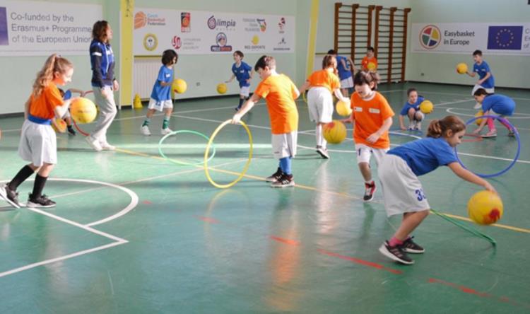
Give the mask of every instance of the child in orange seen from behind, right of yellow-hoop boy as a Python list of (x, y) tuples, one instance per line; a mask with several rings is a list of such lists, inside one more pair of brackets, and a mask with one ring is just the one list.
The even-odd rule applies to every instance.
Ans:
[(348, 98), (343, 97), (339, 89), (341, 83), (336, 74), (337, 60), (333, 55), (328, 54), (322, 60), (322, 70), (314, 71), (300, 88), (300, 93), (304, 93), (307, 88), (310, 88), (309, 93), (307, 93), (310, 120), (317, 123), (317, 153), (325, 159), (329, 158), (329, 154), (326, 149), (327, 141), (322, 135), (322, 126), (332, 120), (333, 96), (331, 93), (335, 93), (338, 99), (346, 103), (349, 101)]

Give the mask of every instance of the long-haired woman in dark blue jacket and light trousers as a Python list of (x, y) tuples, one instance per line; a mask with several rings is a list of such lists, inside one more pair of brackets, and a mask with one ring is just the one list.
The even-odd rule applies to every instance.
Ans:
[(90, 42), (90, 64), (92, 66), (92, 89), (95, 103), (100, 107), (100, 117), (86, 141), (95, 151), (114, 151), (116, 147), (107, 142), (107, 129), (116, 116), (114, 91), (119, 84), (114, 78), (114, 52), (110, 47), (112, 29), (107, 21), (98, 21), (92, 28)]

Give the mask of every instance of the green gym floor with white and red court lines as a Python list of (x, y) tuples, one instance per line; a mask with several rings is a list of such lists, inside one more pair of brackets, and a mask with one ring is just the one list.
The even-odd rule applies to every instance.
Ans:
[[(464, 120), (475, 112), (467, 86), (406, 83), (379, 91), (399, 114), (411, 86), (435, 103), (424, 132), (449, 112)], [(496, 248), (430, 215), (414, 233), (426, 250), (411, 256), (416, 264), (381, 255), (379, 245), (400, 218), (387, 219), (380, 190), (373, 202), (362, 202), (351, 132), (329, 146), (331, 159), (319, 158), (302, 100), (297, 186), (285, 189), (264, 182), (277, 161), (263, 102), (244, 118), (254, 138), (247, 175), (225, 190), (208, 182), (201, 165), (160, 158), (162, 116), (151, 121), (153, 135), (142, 136), (144, 106), (118, 113), (108, 132), (117, 151), (96, 153), (81, 134), (58, 136), (59, 163), (45, 187), (56, 208), (13, 209), (0, 201), (0, 312), (529, 313), (530, 91), (497, 93), (516, 100), (510, 121), (522, 142), (513, 168), (490, 180), (504, 202), (499, 224), (468, 221), (466, 203), (480, 188), (447, 167), (420, 178), (433, 209), (495, 238)], [(235, 105), (236, 97), (177, 100), (170, 127), (210, 136)], [(17, 154), (22, 123), (0, 118), (3, 182), (25, 164)], [(466, 136), (459, 146), (471, 170), (495, 173), (513, 160), (517, 140), (497, 125), (496, 139)], [(398, 128), (396, 116), (392, 129)], [(416, 136), (423, 134), (394, 131), (390, 139), (396, 146)], [(247, 161), (247, 134), (230, 125), (215, 144), (212, 178), (230, 182)], [(163, 149), (175, 161), (201, 163), (205, 146), (201, 136), (184, 132)], [(18, 188), (22, 201), (32, 186)]]

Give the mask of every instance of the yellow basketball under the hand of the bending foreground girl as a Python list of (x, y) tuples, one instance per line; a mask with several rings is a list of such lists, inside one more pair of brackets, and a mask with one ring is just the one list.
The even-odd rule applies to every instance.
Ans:
[(481, 225), (490, 225), (502, 217), (502, 200), (499, 195), (483, 190), (473, 194), (467, 203), (469, 218)]

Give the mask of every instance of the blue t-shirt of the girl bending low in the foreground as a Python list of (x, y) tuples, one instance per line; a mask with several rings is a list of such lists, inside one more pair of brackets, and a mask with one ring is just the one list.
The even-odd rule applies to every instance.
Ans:
[(389, 150), (388, 153), (403, 158), (415, 175), (425, 175), (440, 165), (457, 162), (454, 149), (443, 137), (425, 137), (411, 141)]

